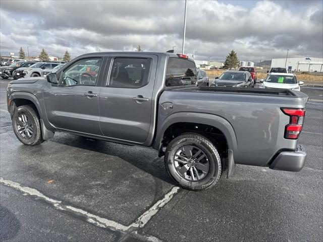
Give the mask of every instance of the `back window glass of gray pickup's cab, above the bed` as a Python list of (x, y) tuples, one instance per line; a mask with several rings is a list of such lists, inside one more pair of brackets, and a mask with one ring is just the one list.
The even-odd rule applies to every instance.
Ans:
[[(188, 78), (191, 79), (191, 84), (196, 83), (194, 62), (182, 58), (169, 58), (165, 85), (167, 87), (187, 85)], [(182, 80), (185, 80), (185, 82), (182, 82)]]

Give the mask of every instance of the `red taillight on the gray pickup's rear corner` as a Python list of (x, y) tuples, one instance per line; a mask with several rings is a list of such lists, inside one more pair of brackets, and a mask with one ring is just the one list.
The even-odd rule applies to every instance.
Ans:
[(285, 126), (285, 139), (296, 140), (302, 131), (305, 108), (281, 108), (288, 115), (289, 124)]

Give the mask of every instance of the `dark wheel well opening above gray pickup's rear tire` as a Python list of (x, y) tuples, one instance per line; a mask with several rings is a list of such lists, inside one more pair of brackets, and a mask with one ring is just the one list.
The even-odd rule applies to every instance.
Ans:
[[(228, 142), (223, 132), (216, 127), (210, 125), (203, 125), (197, 123), (176, 123), (167, 128), (164, 133), (161, 148), (167, 145), (176, 137), (184, 133), (197, 133), (201, 134), (217, 147), (219, 155), (223, 160), (223, 168), (227, 167), (228, 160)], [(164, 150), (164, 149), (163, 149)]]

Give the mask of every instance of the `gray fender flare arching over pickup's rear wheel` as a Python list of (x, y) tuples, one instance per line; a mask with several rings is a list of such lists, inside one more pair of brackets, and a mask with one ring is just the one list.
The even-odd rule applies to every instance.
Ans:
[(199, 112), (176, 112), (169, 115), (163, 122), (163, 125), (157, 127), (156, 138), (153, 143), (153, 148), (159, 149), (161, 141), (163, 141), (165, 131), (173, 124), (176, 123), (196, 123), (202, 125), (213, 126), (219, 129), (226, 137), (228, 143), (228, 149), (233, 152), (238, 149), (237, 137), (234, 132), (232, 125), (225, 118), (209, 114), (209, 113), (199, 113)]

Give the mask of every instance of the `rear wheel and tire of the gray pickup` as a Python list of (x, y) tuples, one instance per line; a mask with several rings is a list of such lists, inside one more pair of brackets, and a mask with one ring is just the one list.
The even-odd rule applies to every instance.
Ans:
[[(187, 149), (190, 150), (188, 157), (191, 156), (191, 159), (188, 158), (187, 162), (183, 162), (182, 157), (187, 158), (185, 152)], [(200, 153), (197, 154), (199, 151)], [(165, 166), (180, 187), (192, 191), (201, 191), (216, 185), (222, 172), (221, 158), (217, 148), (209, 139), (195, 133), (183, 134), (169, 143), (165, 152)], [(195, 171), (193, 171), (194, 168)], [(199, 174), (196, 175), (196, 172)]]

